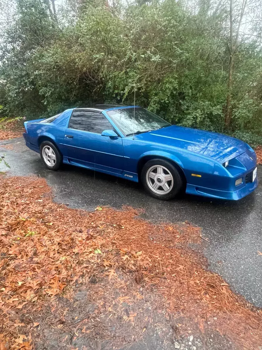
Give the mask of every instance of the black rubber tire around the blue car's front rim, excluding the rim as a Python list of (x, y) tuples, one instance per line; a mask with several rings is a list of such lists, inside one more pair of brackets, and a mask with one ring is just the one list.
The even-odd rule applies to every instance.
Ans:
[[(157, 193), (154, 193), (151, 190), (151, 188), (148, 187), (148, 184), (146, 182), (146, 173), (147, 173), (147, 170), (154, 165), (162, 165), (163, 167), (167, 168), (173, 176), (173, 182), (174, 182), (173, 188), (166, 195), (159, 195)], [(183, 188), (182, 177), (180, 176), (178, 170), (174, 167), (174, 165), (172, 163), (168, 162), (167, 160), (158, 159), (158, 158), (149, 160), (148, 162), (145, 163), (145, 165), (141, 171), (141, 182), (143, 183), (143, 186), (144, 186), (145, 190), (147, 191), (147, 193), (149, 193), (154, 198), (158, 198), (158, 199), (161, 199), (164, 201), (170, 200), (170, 199), (174, 198), (175, 196), (177, 196), (178, 194), (180, 194), (181, 190)]]

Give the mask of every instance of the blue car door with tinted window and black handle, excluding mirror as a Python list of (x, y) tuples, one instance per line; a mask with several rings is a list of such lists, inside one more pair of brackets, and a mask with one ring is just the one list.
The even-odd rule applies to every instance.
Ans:
[(68, 161), (121, 174), (124, 157), (122, 138), (101, 135), (109, 129), (114, 130), (102, 113), (74, 110), (64, 137)]

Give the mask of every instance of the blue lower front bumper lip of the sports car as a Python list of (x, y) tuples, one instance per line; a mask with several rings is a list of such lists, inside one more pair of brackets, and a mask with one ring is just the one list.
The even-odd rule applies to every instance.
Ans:
[(186, 188), (186, 193), (210, 198), (238, 201), (241, 198), (246, 197), (247, 195), (252, 193), (257, 188), (258, 184), (259, 181), (257, 176), (254, 182), (246, 183), (245, 186), (241, 187), (236, 191), (214, 190), (211, 188), (199, 187), (188, 184)]

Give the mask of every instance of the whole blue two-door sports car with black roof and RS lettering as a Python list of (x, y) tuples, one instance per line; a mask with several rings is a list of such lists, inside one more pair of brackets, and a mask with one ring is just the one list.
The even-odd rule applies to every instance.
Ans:
[(95, 105), (24, 123), (45, 166), (62, 163), (141, 181), (153, 197), (239, 200), (258, 185), (256, 154), (232, 137), (175, 126), (139, 106)]

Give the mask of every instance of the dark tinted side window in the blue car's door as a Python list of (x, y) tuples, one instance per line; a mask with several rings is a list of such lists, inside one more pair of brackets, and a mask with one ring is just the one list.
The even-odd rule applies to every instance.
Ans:
[(102, 113), (92, 111), (73, 111), (68, 128), (97, 134), (104, 130), (113, 130), (111, 123)]

